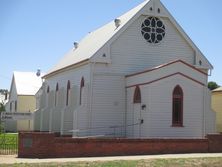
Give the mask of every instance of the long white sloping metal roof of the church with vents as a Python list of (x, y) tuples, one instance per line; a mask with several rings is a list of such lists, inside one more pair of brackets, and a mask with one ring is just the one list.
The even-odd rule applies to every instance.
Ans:
[(106, 42), (108, 42), (134, 15), (136, 15), (150, 0), (146, 0), (124, 15), (118, 17), (121, 24), (116, 28), (114, 21), (89, 33), (83, 38), (77, 49), (71, 49), (46, 75), (90, 59)]

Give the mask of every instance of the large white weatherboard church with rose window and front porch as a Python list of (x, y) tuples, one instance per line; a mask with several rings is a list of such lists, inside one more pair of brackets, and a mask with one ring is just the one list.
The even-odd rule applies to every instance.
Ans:
[(74, 43), (43, 78), (35, 130), (75, 137), (204, 138), (213, 66), (159, 0)]

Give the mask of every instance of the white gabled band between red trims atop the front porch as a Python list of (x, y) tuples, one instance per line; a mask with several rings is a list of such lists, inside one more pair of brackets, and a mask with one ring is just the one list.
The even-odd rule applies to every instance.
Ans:
[(206, 86), (207, 74), (182, 60), (176, 60), (149, 70), (127, 75), (126, 88), (149, 85), (173, 76), (182, 76), (201, 86)]

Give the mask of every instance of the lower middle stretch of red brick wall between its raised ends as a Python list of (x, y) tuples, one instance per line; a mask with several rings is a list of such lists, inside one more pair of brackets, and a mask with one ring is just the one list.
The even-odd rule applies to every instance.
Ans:
[(207, 152), (208, 141), (174, 139), (55, 139), (54, 157)]

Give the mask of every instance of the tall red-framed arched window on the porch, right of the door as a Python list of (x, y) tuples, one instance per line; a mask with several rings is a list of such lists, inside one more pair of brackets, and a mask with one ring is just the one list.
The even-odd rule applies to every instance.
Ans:
[(173, 90), (173, 126), (183, 126), (183, 90), (177, 85)]

